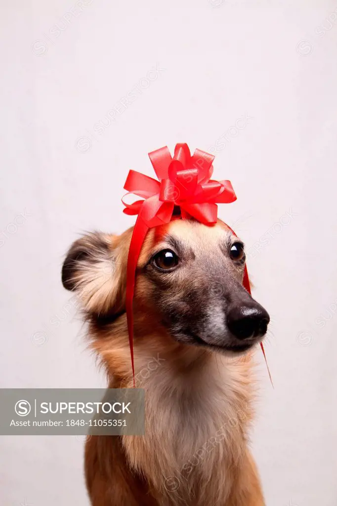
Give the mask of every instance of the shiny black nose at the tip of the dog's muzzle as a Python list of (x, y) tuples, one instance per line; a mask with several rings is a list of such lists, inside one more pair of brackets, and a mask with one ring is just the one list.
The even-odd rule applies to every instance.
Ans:
[(227, 325), (237, 339), (262, 337), (267, 332), (269, 314), (260, 305), (234, 306), (227, 314)]

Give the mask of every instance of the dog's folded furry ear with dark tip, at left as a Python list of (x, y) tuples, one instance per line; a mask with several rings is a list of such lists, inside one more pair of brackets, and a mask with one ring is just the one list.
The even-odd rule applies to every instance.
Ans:
[(124, 308), (131, 234), (93, 232), (75, 241), (62, 267), (62, 283), (74, 291), (88, 313), (111, 314)]

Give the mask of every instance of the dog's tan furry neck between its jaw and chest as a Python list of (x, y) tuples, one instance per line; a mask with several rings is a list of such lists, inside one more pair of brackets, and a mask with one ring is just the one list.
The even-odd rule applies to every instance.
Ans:
[[(164, 391), (173, 389), (177, 394), (209, 395), (219, 385), (224, 398), (250, 396), (249, 371), (251, 354), (228, 357), (194, 345), (180, 344), (162, 327), (156, 331), (140, 332), (135, 328), (134, 360), (135, 384), (152, 390), (155, 384)], [(158, 328), (159, 327), (159, 328)], [(95, 328), (90, 333), (96, 333)], [(94, 332), (93, 332), (94, 330)], [(137, 331), (138, 330), (138, 331)], [(159, 331), (158, 331), (159, 330)], [(104, 335), (104, 334), (103, 334)], [(92, 346), (102, 359), (111, 388), (133, 386), (133, 373), (125, 315), (106, 329), (106, 338), (95, 339)]]

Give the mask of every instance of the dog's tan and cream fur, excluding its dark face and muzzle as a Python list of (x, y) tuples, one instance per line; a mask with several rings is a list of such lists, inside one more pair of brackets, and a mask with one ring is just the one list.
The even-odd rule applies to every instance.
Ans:
[[(87, 442), (86, 477), (92, 504), (263, 506), (247, 445), (255, 390), (251, 354), (247, 360), (235, 360), (178, 343), (147, 302), (149, 287), (142, 267), (168, 229), (204, 255), (224, 230), (229, 233), (221, 222), (205, 227), (185, 220), (148, 233), (134, 303), (136, 386), (146, 391), (146, 435), (96, 436)], [(104, 315), (112, 307), (115, 311), (124, 307), (131, 234), (132, 230), (119, 237), (101, 235), (108, 251), (97, 248), (75, 269), (74, 289), (87, 314)], [(95, 236), (79, 241), (83, 240), (92, 250)], [(106, 328), (89, 321), (91, 346), (105, 367), (109, 387), (132, 388), (125, 314)]]

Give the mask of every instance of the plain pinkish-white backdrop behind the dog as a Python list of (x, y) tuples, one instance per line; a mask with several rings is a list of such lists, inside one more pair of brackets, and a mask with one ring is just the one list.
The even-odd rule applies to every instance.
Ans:
[[(148, 151), (213, 151), (215, 177), (238, 196), (220, 217), (245, 241), (272, 316), (275, 390), (260, 357), (252, 433), (267, 505), (335, 506), (337, 4), (74, 6), (2, 2), (1, 387), (104, 386), (61, 285), (63, 255), (84, 230), (133, 224), (122, 187), (130, 168), (153, 175)], [(0, 444), (2, 504), (88, 504), (82, 442)]]

